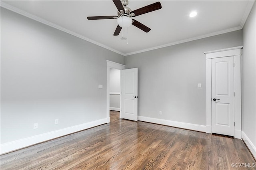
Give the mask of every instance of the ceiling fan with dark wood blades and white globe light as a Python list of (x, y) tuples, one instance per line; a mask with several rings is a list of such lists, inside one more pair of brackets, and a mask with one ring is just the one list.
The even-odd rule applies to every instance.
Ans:
[(153, 4), (150, 4), (148, 6), (144, 6), (142, 8), (139, 8), (137, 10), (131, 10), (127, 7), (128, 0), (113, 0), (114, 4), (116, 5), (116, 8), (118, 9), (118, 16), (88, 16), (88, 20), (104, 20), (104, 19), (117, 19), (118, 25), (116, 27), (116, 30), (114, 32), (114, 36), (118, 36), (122, 28), (127, 28), (131, 24), (139, 28), (140, 30), (144, 32), (149, 32), (151, 29), (145, 26), (144, 24), (132, 19), (131, 17), (139, 16), (142, 14), (146, 14), (148, 12), (152, 12), (155, 10), (159, 10), (162, 8), (160, 2), (155, 2)]

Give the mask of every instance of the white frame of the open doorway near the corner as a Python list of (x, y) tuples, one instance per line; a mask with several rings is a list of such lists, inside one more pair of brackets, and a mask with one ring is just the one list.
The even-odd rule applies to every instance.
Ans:
[[(106, 115), (107, 115), (107, 123), (110, 123), (110, 115), (109, 115), (109, 86), (110, 86), (110, 82), (109, 82), (109, 73), (110, 73), (110, 68), (112, 69), (118, 69), (118, 70), (123, 70), (125, 68), (125, 65), (123, 64), (119, 64), (119, 63), (115, 63), (113, 61), (107, 61), (107, 110), (106, 110)], [(122, 82), (122, 76), (120, 74), (120, 82)], [(120, 90), (122, 91), (122, 83), (120, 83)], [(121, 110), (121, 98), (122, 94), (120, 93), (120, 110)]]

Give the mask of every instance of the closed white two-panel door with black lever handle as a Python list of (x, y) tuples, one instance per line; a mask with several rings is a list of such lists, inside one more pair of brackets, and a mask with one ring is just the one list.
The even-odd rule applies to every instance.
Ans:
[(212, 59), (212, 133), (234, 136), (234, 57)]

